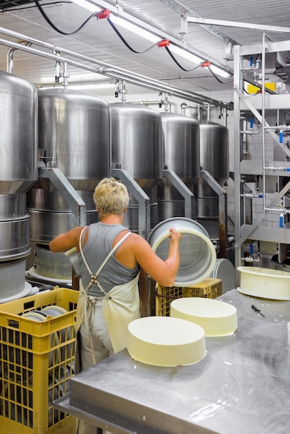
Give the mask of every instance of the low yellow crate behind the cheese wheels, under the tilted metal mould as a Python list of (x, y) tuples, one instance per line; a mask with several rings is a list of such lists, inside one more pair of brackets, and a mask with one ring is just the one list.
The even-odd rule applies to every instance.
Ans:
[(221, 279), (207, 279), (194, 286), (155, 286), (155, 315), (169, 316), (172, 300), (181, 297), (216, 298), (222, 294)]

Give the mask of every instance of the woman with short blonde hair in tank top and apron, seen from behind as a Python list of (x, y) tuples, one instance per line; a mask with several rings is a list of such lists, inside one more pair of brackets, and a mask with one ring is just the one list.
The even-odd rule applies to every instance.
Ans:
[(99, 182), (94, 203), (99, 223), (74, 227), (49, 243), (52, 252), (71, 248), (78, 252), (80, 294), (76, 329), (80, 361), (76, 354), (76, 372), (126, 347), (128, 324), (140, 317), (140, 268), (162, 286), (172, 286), (179, 267), (181, 234), (176, 229), (170, 229), (169, 253), (163, 261), (142, 236), (121, 224), (129, 196), (119, 180), (111, 177)]

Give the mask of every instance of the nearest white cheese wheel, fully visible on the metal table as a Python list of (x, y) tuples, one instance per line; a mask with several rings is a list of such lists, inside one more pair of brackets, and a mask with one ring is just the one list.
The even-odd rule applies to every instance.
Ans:
[(147, 365), (191, 365), (205, 357), (205, 331), (179, 318), (139, 318), (128, 325), (127, 349), (134, 360)]

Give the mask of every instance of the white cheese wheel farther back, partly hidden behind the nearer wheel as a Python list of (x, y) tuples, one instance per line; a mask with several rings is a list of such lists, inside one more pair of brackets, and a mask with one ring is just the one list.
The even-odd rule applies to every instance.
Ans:
[(173, 318), (192, 321), (205, 330), (205, 336), (227, 336), (237, 330), (237, 309), (211, 298), (183, 297), (170, 306)]

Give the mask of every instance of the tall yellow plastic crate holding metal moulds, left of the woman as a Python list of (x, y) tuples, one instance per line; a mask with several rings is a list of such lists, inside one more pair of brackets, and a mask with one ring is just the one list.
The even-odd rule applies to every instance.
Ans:
[[(74, 375), (78, 291), (54, 288), (0, 304), (1, 434), (73, 434), (76, 419), (56, 410), (53, 401), (67, 394)], [(67, 313), (41, 322), (23, 317), (46, 306)]]

